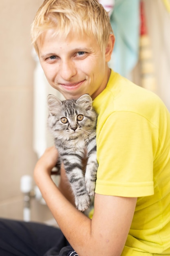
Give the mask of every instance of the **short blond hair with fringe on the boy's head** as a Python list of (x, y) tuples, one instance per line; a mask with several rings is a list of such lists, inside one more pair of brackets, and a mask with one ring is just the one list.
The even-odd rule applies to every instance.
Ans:
[(67, 36), (69, 32), (95, 36), (101, 50), (113, 33), (108, 13), (97, 0), (44, 0), (31, 26), (31, 40), (38, 52), (37, 39), (47, 29)]

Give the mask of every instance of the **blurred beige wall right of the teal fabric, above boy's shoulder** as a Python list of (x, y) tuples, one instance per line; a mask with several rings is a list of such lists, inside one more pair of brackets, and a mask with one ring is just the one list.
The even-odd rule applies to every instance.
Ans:
[[(170, 111), (170, 0), (143, 0), (143, 2), (155, 70), (155, 92)], [(165, 3), (168, 4), (167, 9)], [(141, 85), (139, 68), (138, 62), (132, 74), (134, 81)]]

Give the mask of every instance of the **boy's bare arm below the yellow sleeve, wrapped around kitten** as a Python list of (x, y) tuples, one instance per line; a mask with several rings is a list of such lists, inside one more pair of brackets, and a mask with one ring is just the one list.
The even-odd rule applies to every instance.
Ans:
[(95, 212), (90, 220), (51, 180), (55, 157), (54, 148), (46, 150), (35, 166), (34, 177), (64, 236), (79, 256), (120, 256), (137, 199), (95, 194)]

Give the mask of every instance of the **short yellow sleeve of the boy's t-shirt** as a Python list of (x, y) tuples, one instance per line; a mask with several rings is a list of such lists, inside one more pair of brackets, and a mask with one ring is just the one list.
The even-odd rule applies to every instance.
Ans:
[(114, 112), (97, 127), (95, 192), (141, 197), (152, 195), (157, 129), (133, 112)]

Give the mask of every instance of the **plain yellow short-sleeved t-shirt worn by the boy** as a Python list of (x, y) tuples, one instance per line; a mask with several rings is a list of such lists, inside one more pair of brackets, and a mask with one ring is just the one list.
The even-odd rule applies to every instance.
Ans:
[(170, 113), (156, 94), (113, 71), (93, 106), (95, 192), (138, 197), (122, 256), (170, 255)]

